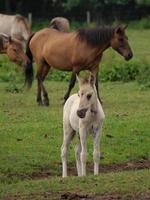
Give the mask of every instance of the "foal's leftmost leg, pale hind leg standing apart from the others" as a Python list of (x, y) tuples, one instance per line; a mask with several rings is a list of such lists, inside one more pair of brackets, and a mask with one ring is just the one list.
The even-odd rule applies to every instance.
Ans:
[(68, 125), (64, 127), (64, 137), (63, 144), (61, 147), (61, 159), (62, 159), (62, 177), (67, 176), (67, 156), (68, 156), (68, 148), (71, 140), (75, 135), (75, 131)]

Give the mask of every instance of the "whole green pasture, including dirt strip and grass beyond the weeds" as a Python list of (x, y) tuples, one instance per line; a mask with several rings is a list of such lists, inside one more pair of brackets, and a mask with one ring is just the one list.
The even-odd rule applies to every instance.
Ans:
[[(133, 61), (150, 62), (149, 35), (149, 30), (129, 30)], [(124, 62), (109, 50), (102, 68)], [(92, 175), (90, 137), (88, 176), (73, 176), (75, 140), (69, 154), (71, 177), (62, 179), (62, 98), (67, 83), (54, 81), (57, 76), (50, 74), (48, 80), (52, 81), (45, 81), (50, 107), (38, 107), (35, 81), (31, 90), (22, 92), (22, 69), (8, 62), (6, 56), (0, 56), (0, 199), (71, 199), (71, 195), (72, 199), (73, 195), (74, 199), (149, 199), (150, 90), (141, 90), (136, 82), (101, 84), (106, 119), (101, 137), (100, 175)], [(77, 88), (76, 85), (72, 93)]]

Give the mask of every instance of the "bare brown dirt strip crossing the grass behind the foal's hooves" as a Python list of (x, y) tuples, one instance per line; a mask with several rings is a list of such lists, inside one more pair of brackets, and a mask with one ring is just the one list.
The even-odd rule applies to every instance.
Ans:
[[(61, 176), (61, 162), (55, 163), (58, 166), (59, 174)], [(108, 173), (108, 172), (118, 172), (118, 171), (126, 171), (126, 170), (140, 170), (140, 169), (150, 169), (150, 160), (142, 160), (137, 162), (128, 162), (128, 163), (119, 163), (119, 164), (111, 164), (111, 165), (100, 165), (100, 173)], [(93, 163), (87, 163), (87, 173), (93, 173)], [(75, 164), (68, 165), (68, 175), (69, 176), (76, 176), (77, 171)], [(37, 171), (33, 172), (32, 174), (14, 174), (9, 173), (7, 174), (9, 179), (13, 179), (13, 177), (18, 177), (21, 180), (36, 180), (36, 179), (44, 179), (50, 178), (54, 176), (50, 173), (49, 168), (39, 168)]]

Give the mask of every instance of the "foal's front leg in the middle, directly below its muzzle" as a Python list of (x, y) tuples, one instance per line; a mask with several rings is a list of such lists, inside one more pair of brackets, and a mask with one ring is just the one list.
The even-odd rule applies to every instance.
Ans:
[(80, 123), (79, 125), (79, 135), (80, 135), (80, 142), (81, 142), (81, 176), (86, 176), (86, 160), (87, 160), (87, 131), (86, 127)]

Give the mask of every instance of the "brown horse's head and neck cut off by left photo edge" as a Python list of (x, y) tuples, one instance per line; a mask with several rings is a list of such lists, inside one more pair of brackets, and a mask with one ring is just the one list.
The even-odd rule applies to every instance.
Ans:
[(26, 67), (30, 64), (29, 58), (24, 53), (23, 44), (4, 33), (0, 33), (0, 54), (7, 54), (10, 61), (20, 66)]

